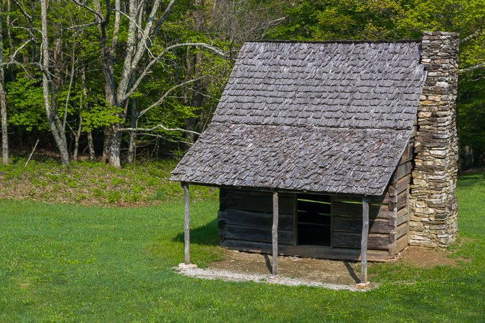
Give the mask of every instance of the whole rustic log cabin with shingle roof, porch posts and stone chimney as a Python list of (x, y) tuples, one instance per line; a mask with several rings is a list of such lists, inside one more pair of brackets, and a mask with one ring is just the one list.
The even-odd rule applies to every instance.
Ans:
[(186, 263), (188, 185), (219, 187), (220, 246), (272, 253), (276, 264), (449, 246), (457, 48), (457, 34), (439, 32), (246, 42), (209, 127), (170, 178), (186, 193)]

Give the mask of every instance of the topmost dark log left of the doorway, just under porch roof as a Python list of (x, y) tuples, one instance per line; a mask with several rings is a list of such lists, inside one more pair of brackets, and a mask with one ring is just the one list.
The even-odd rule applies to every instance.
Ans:
[[(224, 189), (224, 194), (221, 195), (221, 203), (224, 207), (221, 207), (221, 210), (236, 209), (263, 213), (273, 212), (273, 197), (271, 192)], [(279, 194), (279, 212), (293, 214), (293, 194)]]

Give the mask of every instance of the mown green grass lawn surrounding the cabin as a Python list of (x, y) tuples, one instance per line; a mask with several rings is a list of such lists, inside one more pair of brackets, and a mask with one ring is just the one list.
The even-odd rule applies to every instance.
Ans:
[[(419, 321), (485, 317), (485, 174), (459, 180), (459, 266), (372, 264), (367, 293), (183, 277), (183, 205), (0, 202), (0, 322)], [(215, 201), (192, 207), (192, 259), (221, 257)], [(396, 283), (404, 282), (404, 283)], [(411, 284), (409, 284), (411, 282)]]

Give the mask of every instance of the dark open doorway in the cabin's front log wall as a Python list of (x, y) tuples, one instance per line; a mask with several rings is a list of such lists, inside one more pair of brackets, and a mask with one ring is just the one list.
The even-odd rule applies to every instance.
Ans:
[(298, 244), (331, 246), (332, 215), (329, 195), (297, 194)]

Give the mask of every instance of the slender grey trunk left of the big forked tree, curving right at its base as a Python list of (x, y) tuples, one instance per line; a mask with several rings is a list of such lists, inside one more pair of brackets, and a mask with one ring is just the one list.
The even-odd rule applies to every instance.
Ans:
[(55, 109), (53, 84), (48, 76), (49, 48), (47, 37), (47, 0), (41, 0), (41, 24), (42, 24), (42, 93), (44, 94), (44, 105), (46, 108), (47, 121), (51, 127), (55, 144), (58, 146), (62, 167), (69, 165), (69, 152), (67, 151), (67, 140), (62, 123)]

